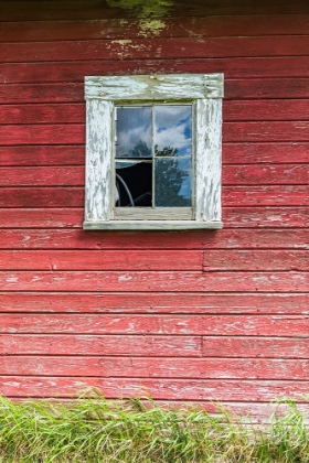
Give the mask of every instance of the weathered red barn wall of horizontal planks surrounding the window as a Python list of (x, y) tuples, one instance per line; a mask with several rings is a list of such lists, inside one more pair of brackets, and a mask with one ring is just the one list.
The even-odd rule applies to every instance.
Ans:
[[(1, 3), (0, 394), (308, 392), (309, 7)], [(84, 232), (84, 76), (191, 72), (225, 75), (224, 229)]]

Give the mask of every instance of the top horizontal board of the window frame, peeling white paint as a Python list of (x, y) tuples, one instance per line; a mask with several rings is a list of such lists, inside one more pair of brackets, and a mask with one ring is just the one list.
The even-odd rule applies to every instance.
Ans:
[(86, 99), (119, 101), (223, 97), (223, 74), (86, 77), (85, 84)]

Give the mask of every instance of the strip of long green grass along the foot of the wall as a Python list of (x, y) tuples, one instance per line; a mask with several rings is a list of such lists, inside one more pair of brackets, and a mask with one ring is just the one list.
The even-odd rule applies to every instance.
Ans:
[(309, 463), (308, 414), (290, 399), (277, 407), (267, 424), (254, 426), (220, 406), (214, 416), (97, 392), (66, 403), (0, 396), (0, 462)]

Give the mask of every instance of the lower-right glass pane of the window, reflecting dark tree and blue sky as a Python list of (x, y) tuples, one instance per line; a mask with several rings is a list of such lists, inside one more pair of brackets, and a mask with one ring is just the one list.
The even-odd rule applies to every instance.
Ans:
[(157, 158), (154, 172), (157, 207), (191, 206), (192, 166), (190, 158)]

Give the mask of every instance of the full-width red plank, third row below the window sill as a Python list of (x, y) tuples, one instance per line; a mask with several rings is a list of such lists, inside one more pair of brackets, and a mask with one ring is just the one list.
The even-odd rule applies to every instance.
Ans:
[(306, 292), (303, 272), (2, 271), (3, 291)]

